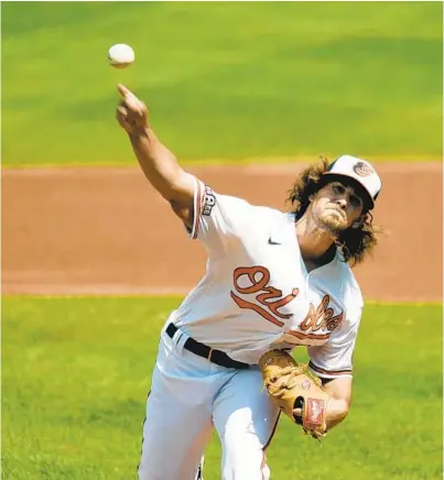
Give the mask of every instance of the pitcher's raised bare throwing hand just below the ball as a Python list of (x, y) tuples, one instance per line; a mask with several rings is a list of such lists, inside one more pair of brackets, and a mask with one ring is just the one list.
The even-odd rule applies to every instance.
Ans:
[(120, 127), (128, 133), (145, 129), (148, 127), (147, 106), (124, 85), (119, 84), (117, 89), (121, 96), (116, 112)]

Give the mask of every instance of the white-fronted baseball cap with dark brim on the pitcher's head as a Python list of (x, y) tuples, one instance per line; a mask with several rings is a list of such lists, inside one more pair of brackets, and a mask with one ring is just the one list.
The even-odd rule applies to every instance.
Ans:
[(364, 188), (370, 209), (375, 207), (375, 200), (381, 192), (382, 182), (376, 170), (366, 160), (353, 155), (340, 155), (328, 165), (324, 175), (353, 178)]

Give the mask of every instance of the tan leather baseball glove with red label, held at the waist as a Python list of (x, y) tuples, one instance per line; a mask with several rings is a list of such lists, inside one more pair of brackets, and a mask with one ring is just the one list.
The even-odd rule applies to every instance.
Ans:
[[(274, 404), (301, 425), (305, 434), (321, 440), (326, 435), (328, 394), (305, 363), (283, 350), (271, 350), (259, 360), (264, 386)], [(295, 410), (301, 416), (295, 415)]]

